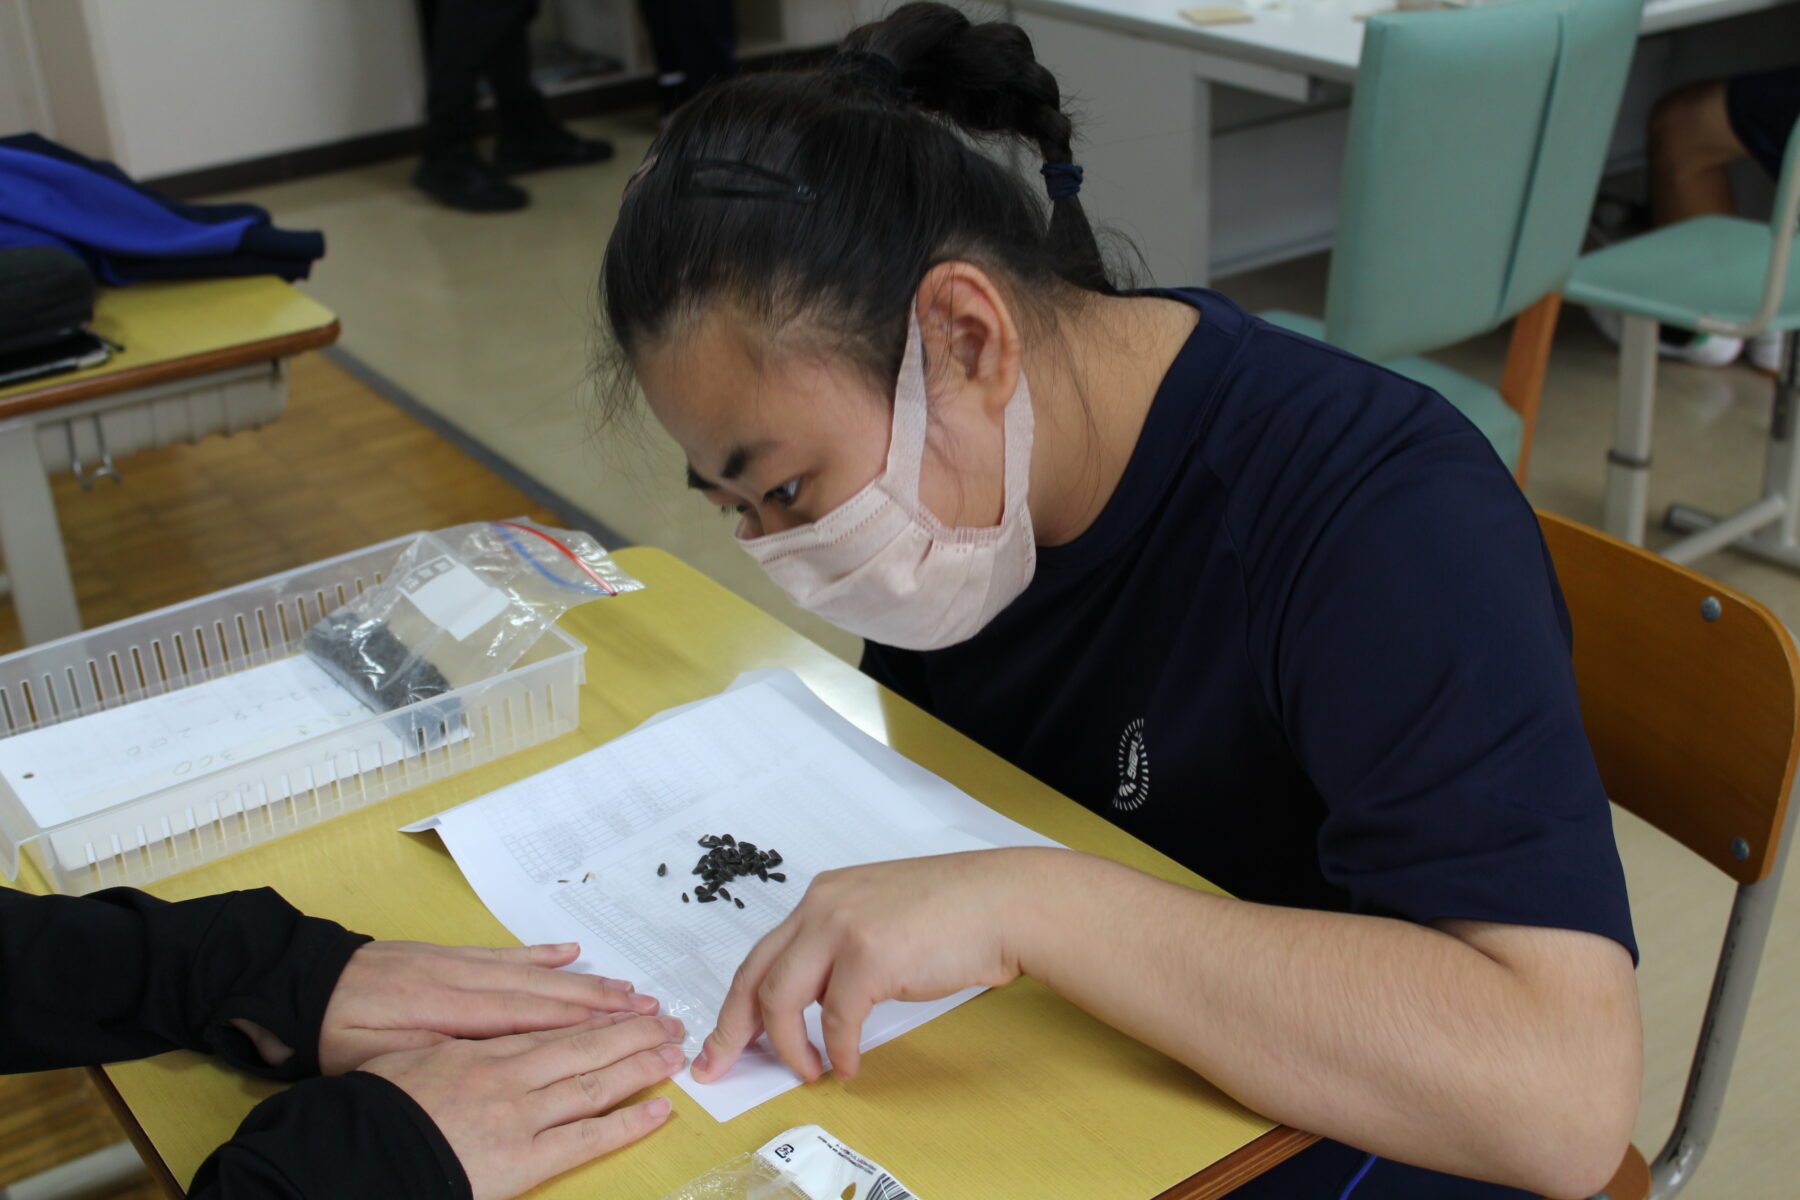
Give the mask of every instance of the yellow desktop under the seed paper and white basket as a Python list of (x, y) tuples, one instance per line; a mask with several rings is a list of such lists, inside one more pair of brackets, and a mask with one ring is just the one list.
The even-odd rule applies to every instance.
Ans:
[[(747, 601), (650, 549), (617, 554), (648, 588), (572, 610), (587, 642), (576, 732), (149, 887), (169, 900), (275, 887), (306, 912), (376, 937), (513, 945), (436, 835), (401, 824), (616, 738), (650, 714), (785, 666), (866, 732), (976, 799), (1067, 846), (1165, 880), (1183, 869), (877, 687)], [(27, 887), (43, 889), (41, 878)], [(1048, 883), (1055, 887), (1053, 882)], [(97, 1072), (164, 1177), (200, 1162), (275, 1085), (176, 1052)], [(1305, 1133), (1244, 1110), (1192, 1070), (1030, 981), (985, 993), (871, 1051), (860, 1078), (826, 1078), (720, 1124), (675, 1085), (650, 1139), (547, 1184), (544, 1196), (657, 1200), (794, 1124), (821, 1124), (922, 1200), (1211, 1198), (1305, 1148)]]

